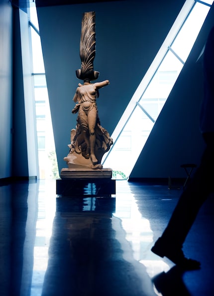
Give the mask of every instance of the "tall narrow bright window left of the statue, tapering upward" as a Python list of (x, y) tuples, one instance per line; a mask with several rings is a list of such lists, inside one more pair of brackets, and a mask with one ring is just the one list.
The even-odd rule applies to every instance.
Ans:
[(29, 24), (32, 42), (39, 178), (56, 179), (59, 173), (35, 3), (30, 6)]

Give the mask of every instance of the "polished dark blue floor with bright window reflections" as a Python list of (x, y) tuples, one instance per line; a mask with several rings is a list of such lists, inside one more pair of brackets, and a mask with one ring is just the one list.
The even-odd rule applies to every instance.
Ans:
[(0, 186), (0, 296), (213, 296), (214, 198), (184, 245), (181, 273), (150, 249), (182, 188), (116, 181), (116, 195), (66, 198), (55, 180)]

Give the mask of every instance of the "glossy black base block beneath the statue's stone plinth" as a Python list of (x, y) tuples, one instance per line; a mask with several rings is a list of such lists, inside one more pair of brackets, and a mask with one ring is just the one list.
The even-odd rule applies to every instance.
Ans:
[(102, 197), (116, 193), (111, 179), (57, 179), (56, 194), (72, 197)]

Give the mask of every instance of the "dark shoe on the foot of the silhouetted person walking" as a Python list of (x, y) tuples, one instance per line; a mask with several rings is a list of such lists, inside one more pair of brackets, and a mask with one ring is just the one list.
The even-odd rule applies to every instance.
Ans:
[(186, 258), (182, 249), (164, 246), (161, 238), (157, 240), (151, 251), (161, 258), (167, 257), (183, 270), (197, 270), (201, 268), (201, 263), (197, 260)]

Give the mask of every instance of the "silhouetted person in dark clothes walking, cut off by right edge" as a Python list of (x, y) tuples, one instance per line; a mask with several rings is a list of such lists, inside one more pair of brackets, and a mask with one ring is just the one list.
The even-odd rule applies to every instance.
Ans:
[(206, 143), (201, 163), (181, 194), (162, 236), (151, 249), (156, 255), (167, 257), (185, 270), (200, 268), (200, 262), (184, 256), (182, 247), (201, 206), (214, 191), (214, 27), (204, 51), (204, 98), (200, 128)]

